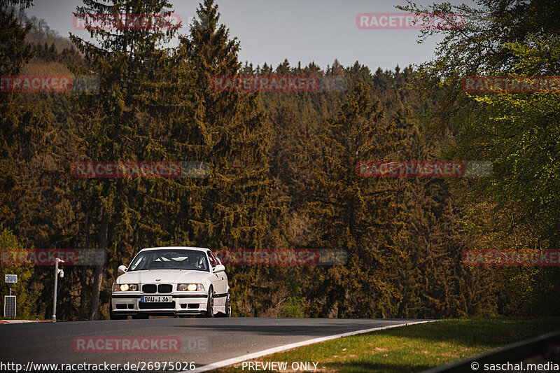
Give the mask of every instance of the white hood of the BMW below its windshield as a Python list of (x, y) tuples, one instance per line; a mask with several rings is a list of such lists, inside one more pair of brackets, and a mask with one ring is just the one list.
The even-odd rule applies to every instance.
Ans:
[(122, 274), (117, 283), (198, 283), (209, 274), (188, 269), (146, 269)]

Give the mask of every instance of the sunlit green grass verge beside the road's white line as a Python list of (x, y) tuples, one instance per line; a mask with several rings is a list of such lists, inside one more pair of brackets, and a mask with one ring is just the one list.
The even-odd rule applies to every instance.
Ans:
[[(333, 339), (253, 361), (287, 362), (283, 372), (295, 372), (289, 369), (293, 362), (318, 362), (317, 372), (419, 372), (554, 330), (560, 330), (560, 318), (450, 319)], [(241, 363), (236, 365), (214, 372), (243, 372)]]

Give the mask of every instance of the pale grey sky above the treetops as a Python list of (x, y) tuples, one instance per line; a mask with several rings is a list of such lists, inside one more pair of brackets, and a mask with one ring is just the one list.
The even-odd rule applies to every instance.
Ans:
[[(446, 0), (454, 5), (466, 3), (475, 7), (472, 0)], [(170, 0), (174, 13), (183, 24), (196, 15), (197, 0)], [(441, 1), (437, 1), (441, 2)], [(435, 35), (423, 43), (419, 30), (414, 29), (358, 29), (359, 13), (403, 13), (395, 5), (406, 5), (405, 0), (216, 0), (221, 13), (220, 22), (230, 29), (230, 36), (239, 38), (241, 62), (253, 66), (278, 64), (288, 59), (291, 66), (311, 62), (323, 69), (335, 59), (343, 66), (360, 64), (372, 71), (394, 69), (395, 66), (420, 64), (434, 57), (437, 42)], [(416, 1), (428, 5), (433, 1)], [(87, 31), (73, 27), (72, 12), (81, 0), (34, 0), (27, 15), (43, 18), (60, 36), (70, 32), (89, 38)], [(185, 26), (179, 30), (188, 34)]]

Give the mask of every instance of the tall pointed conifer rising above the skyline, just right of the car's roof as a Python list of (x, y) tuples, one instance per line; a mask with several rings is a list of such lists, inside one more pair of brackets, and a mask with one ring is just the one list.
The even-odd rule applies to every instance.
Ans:
[[(181, 37), (179, 52), (183, 63), (192, 66), (195, 103), (192, 140), (211, 168), (202, 181), (204, 190), (197, 205), (179, 223), (188, 239), (211, 248), (262, 248), (272, 236), (271, 222), (279, 213), (272, 200), (272, 183), (267, 177), (269, 129), (260, 109), (258, 94), (213, 92), (214, 76), (235, 76), (241, 71), (239, 43), (230, 40), (229, 31), (218, 25), (218, 6), (205, 0), (188, 37)], [(186, 202), (188, 204), (190, 202)], [(258, 267), (232, 268), (230, 284), (237, 304), (251, 304), (249, 284), (258, 276)], [(243, 311), (240, 311), (243, 312)], [(241, 313), (242, 314), (242, 313)]]

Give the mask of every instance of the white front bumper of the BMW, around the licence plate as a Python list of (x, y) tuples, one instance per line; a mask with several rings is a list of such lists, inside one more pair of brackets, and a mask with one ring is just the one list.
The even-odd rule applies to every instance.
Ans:
[[(141, 302), (142, 295), (146, 296), (171, 296), (172, 302), (146, 303)], [(167, 293), (167, 294), (142, 294), (137, 292), (112, 293), (111, 311), (115, 315), (134, 316), (188, 316), (204, 314), (207, 310), (208, 293)]]

